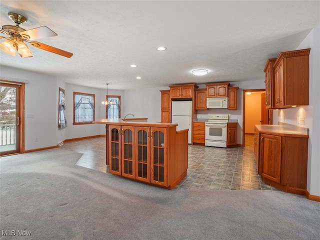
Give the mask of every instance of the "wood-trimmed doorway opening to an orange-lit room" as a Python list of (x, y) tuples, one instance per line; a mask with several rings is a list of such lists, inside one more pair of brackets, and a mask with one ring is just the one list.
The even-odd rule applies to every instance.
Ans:
[(242, 145), (253, 143), (254, 125), (272, 124), (272, 110), (265, 109), (265, 89), (243, 89)]

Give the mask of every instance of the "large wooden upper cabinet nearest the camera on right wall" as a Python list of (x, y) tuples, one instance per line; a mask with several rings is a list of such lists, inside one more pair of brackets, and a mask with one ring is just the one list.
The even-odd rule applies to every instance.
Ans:
[(281, 52), (274, 62), (274, 106), (309, 104), (310, 48)]

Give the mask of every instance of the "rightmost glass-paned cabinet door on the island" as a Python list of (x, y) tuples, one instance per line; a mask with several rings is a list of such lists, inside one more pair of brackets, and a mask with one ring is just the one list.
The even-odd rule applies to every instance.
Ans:
[(166, 185), (166, 128), (151, 128), (151, 182)]

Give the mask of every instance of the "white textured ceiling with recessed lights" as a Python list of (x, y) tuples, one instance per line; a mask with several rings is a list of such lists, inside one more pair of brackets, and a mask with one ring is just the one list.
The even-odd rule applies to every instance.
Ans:
[[(267, 58), (295, 49), (320, 26), (318, 0), (0, 0), (1, 25), (14, 24), (8, 12), (27, 17), (26, 30), (55, 31), (38, 41), (73, 56), (29, 46), (30, 58), (0, 51), (1, 65), (110, 89), (263, 79)], [(209, 73), (194, 76), (195, 68)]]

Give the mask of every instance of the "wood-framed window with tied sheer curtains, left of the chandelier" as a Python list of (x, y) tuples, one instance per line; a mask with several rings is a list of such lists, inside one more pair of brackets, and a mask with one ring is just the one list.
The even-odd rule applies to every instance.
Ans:
[(73, 124), (92, 123), (94, 121), (95, 95), (73, 92)]

